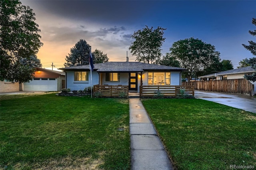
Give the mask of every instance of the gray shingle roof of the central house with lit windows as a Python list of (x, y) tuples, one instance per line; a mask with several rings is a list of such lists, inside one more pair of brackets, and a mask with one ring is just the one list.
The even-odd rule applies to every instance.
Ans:
[[(89, 70), (89, 65), (60, 68), (64, 71)], [(184, 68), (170, 67), (165, 65), (148, 64), (140, 62), (105, 62), (94, 64), (97, 72), (143, 72), (143, 71), (182, 71)]]

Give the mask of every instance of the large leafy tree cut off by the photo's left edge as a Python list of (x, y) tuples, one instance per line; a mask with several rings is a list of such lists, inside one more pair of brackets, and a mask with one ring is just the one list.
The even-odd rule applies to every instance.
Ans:
[[(33, 10), (18, 0), (0, 1), (0, 80), (27, 82), (34, 69), (20, 62), (33, 60), (43, 45)], [(26, 77), (26, 78), (25, 78)]]

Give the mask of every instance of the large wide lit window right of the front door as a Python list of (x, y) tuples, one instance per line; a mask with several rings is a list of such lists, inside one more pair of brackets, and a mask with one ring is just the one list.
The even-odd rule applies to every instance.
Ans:
[(148, 72), (148, 85), (170, 85), (170, 72)]

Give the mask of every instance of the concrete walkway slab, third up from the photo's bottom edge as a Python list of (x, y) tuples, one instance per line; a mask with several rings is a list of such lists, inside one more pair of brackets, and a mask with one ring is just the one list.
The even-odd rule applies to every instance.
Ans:
[(156, 130), (152, 123), (130, 123), (130, 134), (154, 134)]

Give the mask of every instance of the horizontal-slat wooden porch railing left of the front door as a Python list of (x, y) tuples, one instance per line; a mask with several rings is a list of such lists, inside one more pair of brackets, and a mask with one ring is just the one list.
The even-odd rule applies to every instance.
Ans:
[(125, 93), (128, 96), (128, 85), (94, 85), (94, 92), (99, 92), (102, 97), (119, 97)]

